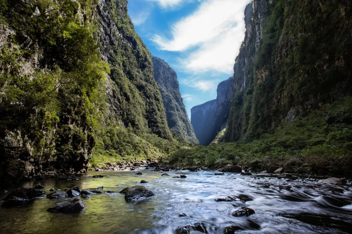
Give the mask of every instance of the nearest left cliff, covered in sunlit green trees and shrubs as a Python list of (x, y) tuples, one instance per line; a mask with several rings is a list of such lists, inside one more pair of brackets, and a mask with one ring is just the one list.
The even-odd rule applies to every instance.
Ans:
[(0, 6), (1, 178), (78, 171), (94, 151), (142, 157), (172, 139), (127, 1)]

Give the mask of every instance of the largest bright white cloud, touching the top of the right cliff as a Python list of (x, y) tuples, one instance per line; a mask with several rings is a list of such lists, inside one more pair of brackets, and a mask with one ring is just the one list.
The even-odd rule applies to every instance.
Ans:
[(172, 39), (155, 35), (152, 40), (162, 50), (183, 51), (186, 56), (180, 63), (191, 72), (230, 74), (244, 38), (244, 9), (249, 2), (207, 0), (171, 27)]

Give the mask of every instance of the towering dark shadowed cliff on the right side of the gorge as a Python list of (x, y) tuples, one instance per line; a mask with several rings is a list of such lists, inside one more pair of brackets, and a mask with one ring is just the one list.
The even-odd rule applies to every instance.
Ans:
[(256, 139), (351, 95), (349, 1), (254, 0), (245, 14), (225, 141)]

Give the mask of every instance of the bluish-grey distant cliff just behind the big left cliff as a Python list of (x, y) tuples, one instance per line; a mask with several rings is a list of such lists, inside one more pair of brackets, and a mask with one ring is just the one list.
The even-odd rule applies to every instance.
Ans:
[(199, 143), (188, 119), (176, 72), (162, 59), (152, 56), (154, 79), (161, 93), (170, 131), (191, 144)]

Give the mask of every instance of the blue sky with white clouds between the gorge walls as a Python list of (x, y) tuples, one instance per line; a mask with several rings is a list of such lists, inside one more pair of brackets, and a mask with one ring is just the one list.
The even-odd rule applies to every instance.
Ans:
[(152, 55), (177, 73), (190, 109), (216, 98), (218, 84), (233, 75), (244, 39), (250, 0), (129, 0), (128, 14)]

